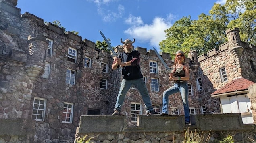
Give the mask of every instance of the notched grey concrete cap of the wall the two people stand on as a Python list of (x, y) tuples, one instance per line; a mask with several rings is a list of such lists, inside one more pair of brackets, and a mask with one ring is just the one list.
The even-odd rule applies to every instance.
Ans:
[(201, 131), (252, 131), (254, 124), (243, 124), (240, 113), (191, 115), (185, 125), (184, 115), (139, 115), (138, 125), (128, 127), (125, 115), (81, 116), (77, 133), (169, 132), (187, 127)]

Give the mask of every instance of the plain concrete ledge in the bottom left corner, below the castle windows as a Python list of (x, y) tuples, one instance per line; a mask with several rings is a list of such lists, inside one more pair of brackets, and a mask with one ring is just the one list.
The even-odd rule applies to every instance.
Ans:
[(0, 119), (0, 135), (35, 135), (35, 120), (33, 119)]

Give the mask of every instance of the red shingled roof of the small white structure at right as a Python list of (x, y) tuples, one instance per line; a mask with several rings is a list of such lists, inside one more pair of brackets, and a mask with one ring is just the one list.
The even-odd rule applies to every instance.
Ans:
[(214, 93), (212, 93), (211, 95), (230, 93), (230, 92), (234, 92), (234, 91), (243, 91), (243, 90), (248, 89), (248, 87), (253, 84), (254, 84), (254, 82), (241, 77), (241, 78), (231, 81), (224, 87), (221, 87), (220, 89), (214, 91)]

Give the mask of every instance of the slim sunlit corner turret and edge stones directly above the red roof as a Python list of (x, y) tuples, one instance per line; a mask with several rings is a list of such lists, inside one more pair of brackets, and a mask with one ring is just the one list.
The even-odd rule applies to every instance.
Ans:
[(241, 77), (241, 55), (244, 50), (239, 34), (239, 28), (234, 28), (233, 30), (226, 30), (228, 42), (229, 42), (229, 51), (233, 54), (232, 58), (235, 59), (235, 66), (237, 67), (237, 73), (235, 77)]

